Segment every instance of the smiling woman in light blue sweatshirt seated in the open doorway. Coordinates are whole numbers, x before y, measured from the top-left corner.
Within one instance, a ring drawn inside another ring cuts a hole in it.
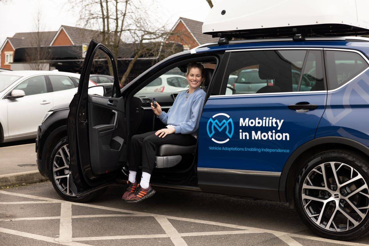
[[[199,63],[191,63],[187,66],[186,79],[189,89],[178,94],[168,113],[162,111],[161,105],[156,101],[154,104],[151,103],[152,111],[166,125],[166,128],[134,135],[131,138],[128,152],[130,174],[122,197],[126,202],[139,202],[154,195],[155,190],[151,188],[149,181],[155,165],[156,149],[159,146],[196,145],[197,129],[206,95],[201,89],[205,81],[204,73],[204,66]],[[141,158],[137,158],[141,155],[142,162]],[[142,166],[142,177],[138,185],[136,174],[139,166]]]

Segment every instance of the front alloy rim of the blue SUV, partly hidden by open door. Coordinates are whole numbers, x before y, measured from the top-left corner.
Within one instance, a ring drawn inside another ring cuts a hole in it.
[[[63,145],[53,159],[53,176],[58,189],[65,195],[75,197],[69,183],[69,145]]]

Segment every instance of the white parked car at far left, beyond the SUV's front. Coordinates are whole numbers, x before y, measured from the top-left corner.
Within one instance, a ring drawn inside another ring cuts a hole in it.
[[[79,74],[58,71],[0,73],[0,143],[36,138],[37,126],[52,107],[70,103]],[[92,81],[89,87],[96,86]]]

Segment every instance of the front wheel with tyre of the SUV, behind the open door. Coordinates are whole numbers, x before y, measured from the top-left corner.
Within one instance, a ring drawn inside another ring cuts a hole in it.
[[[69,148],[68,137],[64,137],[58,141],[51,153],[49,159],[49,177],[56,193],[66,201],[72,202],[88,202],[99,198],[107,190],[107,187],[92,193],[76,197],[69,189]]]

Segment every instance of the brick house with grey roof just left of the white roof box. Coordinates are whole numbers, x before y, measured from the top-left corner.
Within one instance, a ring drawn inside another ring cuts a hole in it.
[[[212,38],[211,35],[202,33],[203,22],[179,17],[172,28],[175,34],[170,35],[166,41],[183,44],[183,49],[188,50],[201,44],[218,42],[219,38]]]

